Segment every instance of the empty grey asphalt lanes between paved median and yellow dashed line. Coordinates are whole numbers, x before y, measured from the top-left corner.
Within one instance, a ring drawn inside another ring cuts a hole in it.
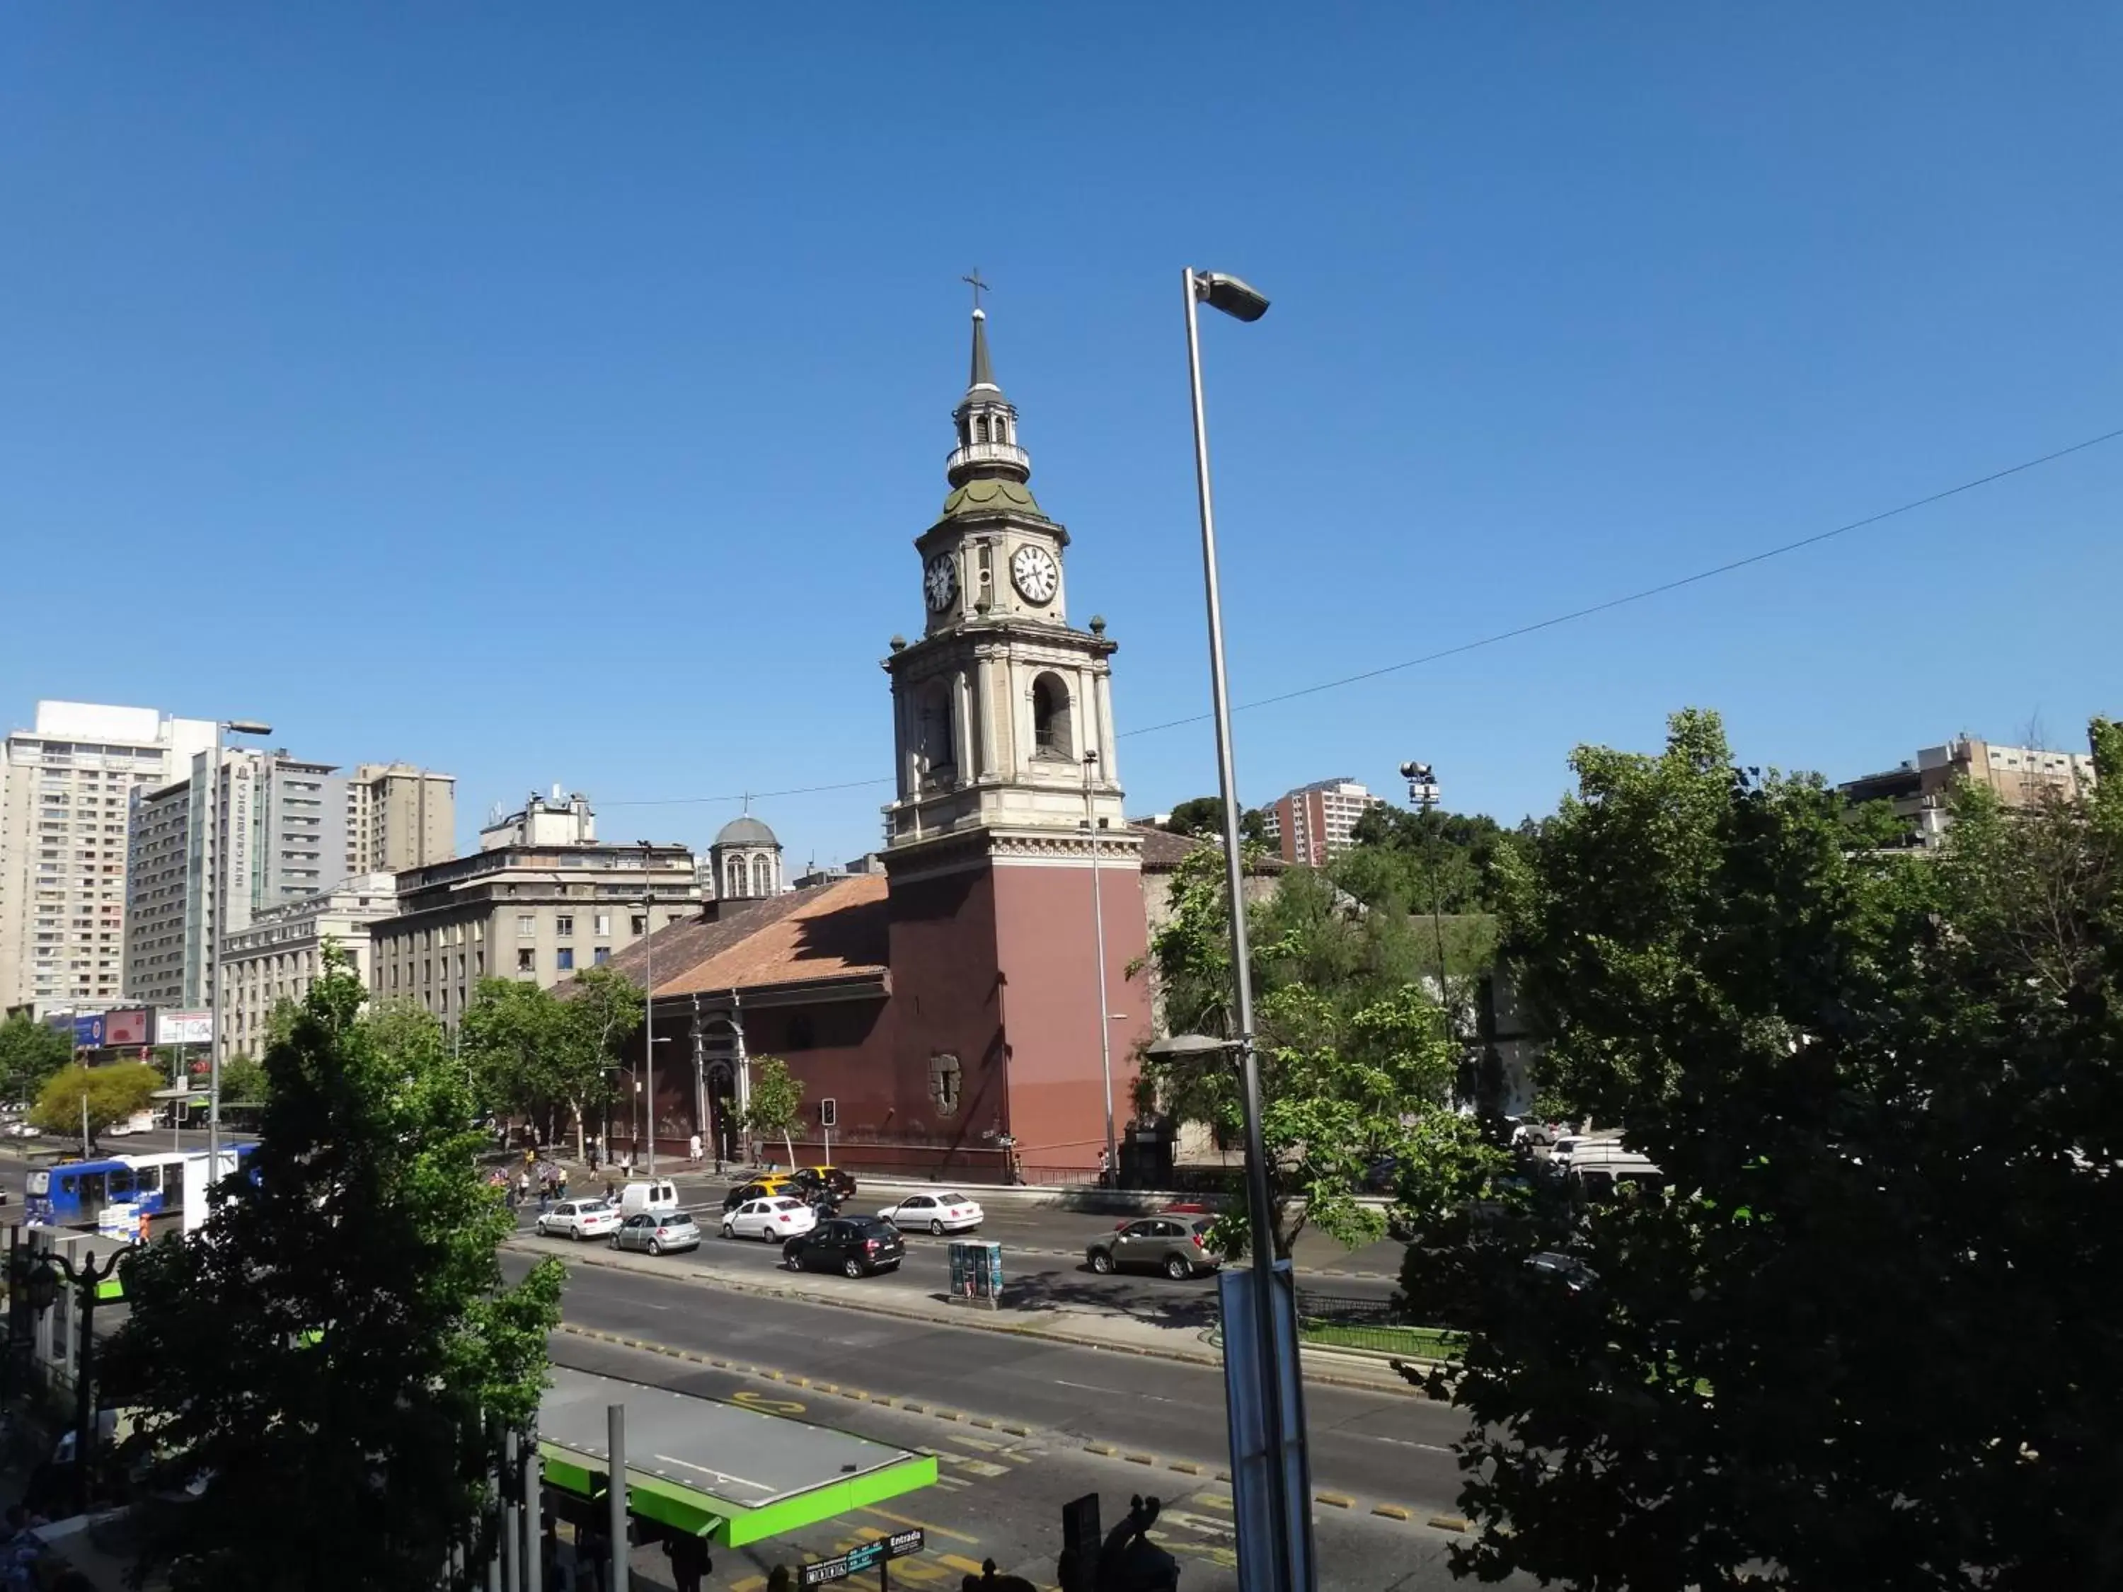
[[[522,1252],[503,1254],[512,1278],[527,1265]],[[607,1267],[573,1269],[563,1310],[577,1327],[1015,1420],[1049,1433],[1051,1441],[1104,1441],[1123,1452],[1193,1460],[1210,1475],[1229,1458],[1223,1375],[1206,1365],[724,1293]],[[1456,1507],[1450,1443],[1467,1422],[1448,1405],[1308,1384],[1306,1416],[1314,1486],[1344,1492],[1365,1509],[1405,1505],[1418,1518]]]

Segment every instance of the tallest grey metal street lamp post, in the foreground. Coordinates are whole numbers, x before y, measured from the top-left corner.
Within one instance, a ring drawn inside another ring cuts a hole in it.
[[[1216,720],[1216,792],[1223,796],[1223,866],[1231,896],[1231,983],[1246,1112],[1246,1227],[1253,1244],[1253,1312],[1261,1363],[1261,1433],[1267,1450],[1263,1471],[1267,1475],[1270,1547],[1274,1552],[1274,1569],[1261,1575],[1259,1569],[1248,1567],[1246,1581],[1263,1592],[1297,1592],[1295,1577],[1308,1573],[1310,1552],[1304,1556],[1306,1567],[1299,1567],[1295,1554],[1299,1543],[1291,1539],[1291,1522],[1293,1509],[1308,1509],[1310,1499],[1287,1496],[1289,1473],[1284,1467],[1284,1448],[1291,1433],[1282,1431],[1280,1339],[1272,1293],[1276,1286],[1276,1233],[1267,1199],[1267,1144],[1261,1136],[1261,1061],[1255,1053],[1253,1034],[1253,968],[1246,947],[1244,866],[1238,851],[1238,775],[1231,762],[1231,696],[1223,669],[1223,596],[1216,584],[1216,512],[1208,484],[1208,418],[1202,408],[1199,321],[1202,304],[1223,310],[1236,321],[1259,321],[1267,314],[1267,297],[1223,272],[1187,267],[1180,274],[1180,282],[1187,301],[1187,376],[1193,397],[1195,492],[1202,503],[1202,590],[1208,605],[1208,681]],[[1225,1335],[1225,1352],[1231,1352],[1229,1335]],[[1291,1346],[1291,1352],[1295,1352],[1295,1346]],[[1255,1552],[1259,1552],[1259,1545],[1255,1545]]]

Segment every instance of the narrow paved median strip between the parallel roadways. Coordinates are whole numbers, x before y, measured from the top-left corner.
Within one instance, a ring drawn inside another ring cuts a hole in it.
[[[648,1254],[626,1254],[620,1250],[554,1250],[524,1235],[505,1242],[529,1254],[558,1254],[567,1265],[601,1267],[609,1271],[641,1271],[664,1282],[690,1282],[701,1288],[724,1288],[728,1293],[752,1293],[769,1299],[796,1299],[813,1305],[839,1305],[873,1316],[894,1316],[928,1327],[964,1327],[983,1333],[1013,1333],[1017,1337],[1038,1337],[1072,1348],[1100,1348],[1115,1354],[1142,1354],[1187,1365],[1223,1365],[1223,1350],[1212,1342],[1214,1327],[1163,1325],[1127,1316],[1117,1310],[1091,1310],[1068,1303],[1017,1305],[1004,1303],[1000,1310],[951,1303],[940,1295],[917,1295],[907,1288],[879,1288],[875,1282],[851,1282],[845,1278],[811,1271],[773,1274],[771,1280],[752,1269],[718,1265],[671,1265]],[[1361,1350],[1331,1350],[1306,1346],[1299,1361],[1308,1382],[1325,1382],[1367,1392],[1397,1392],[1422,1397],[1412,1388],[1391,1361],[1382,1354]],[[1412,1361],[1412,1365],[1427,1365]]]

